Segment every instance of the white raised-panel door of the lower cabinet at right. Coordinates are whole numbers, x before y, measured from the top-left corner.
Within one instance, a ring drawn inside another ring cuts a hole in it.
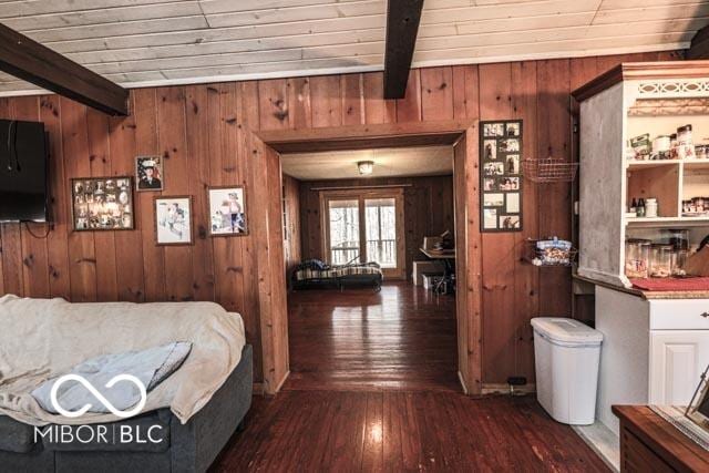
[[[687,405],[709,364],[709,330],[650,331],[650,404]]]

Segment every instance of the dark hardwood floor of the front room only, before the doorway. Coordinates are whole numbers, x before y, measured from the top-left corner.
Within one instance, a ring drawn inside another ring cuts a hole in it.
[[[284,391],[255,398],[214,471],[594,472],[605,464],[534,397]]]

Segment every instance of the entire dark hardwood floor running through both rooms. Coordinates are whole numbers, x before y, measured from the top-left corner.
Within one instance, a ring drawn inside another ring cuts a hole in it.
[[[454,299],[407,284],[289,295],[290,378],[213,471],[608,471],[535,397],[471,398]]]

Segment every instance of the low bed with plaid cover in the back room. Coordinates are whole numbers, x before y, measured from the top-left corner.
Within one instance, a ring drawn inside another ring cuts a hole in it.
[[[379,291],[382,280],[383,274],[377,263],[329,266],[315,259],[301,263],[291,274],[295,290],[371,286]]]

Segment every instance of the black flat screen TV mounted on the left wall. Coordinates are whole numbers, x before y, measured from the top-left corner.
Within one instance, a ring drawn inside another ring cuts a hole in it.
[[[0,222],[47,222],[44,124],[0,120]]]

